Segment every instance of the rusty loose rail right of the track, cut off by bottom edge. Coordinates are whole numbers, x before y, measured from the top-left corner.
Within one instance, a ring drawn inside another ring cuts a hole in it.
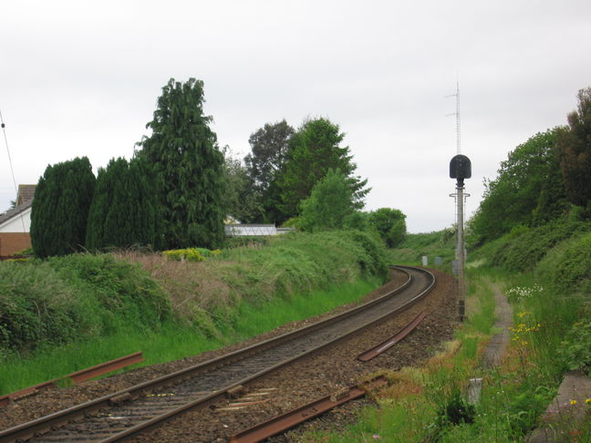
[[[347,403],[350,400],[363,397],[368,390],[377,389],[378,387],[387,384],[388,380],[386,380],[384,376],[378,376],[377,378],[370,380],[368,383],[341,389],[335,394],[320,398],[306,406],[298,407],[281,416],[259,423],[253,428],[238,432],[230,438],[230,443],[256,443],[265,438],[273,437],[285,432],[287,429],[294,428],[310,418],[324,414],[334,407]]]

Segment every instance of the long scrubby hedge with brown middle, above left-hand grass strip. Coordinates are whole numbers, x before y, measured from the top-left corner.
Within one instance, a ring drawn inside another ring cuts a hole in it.
[[[290,233],[265,242],[223,252],[119,252],[136,264],[113,254],[0,263],[0,346],[27,351],[121,331],[158,330],[168,319],[215,336],[232,327],[244,301],[260,305],[387,275],[383,244],[364,232]],[[218,254],[219,260],[204,260]],[[187,263],[176,262],[181,256]],[[190,263],[193,258],[198,263]]]

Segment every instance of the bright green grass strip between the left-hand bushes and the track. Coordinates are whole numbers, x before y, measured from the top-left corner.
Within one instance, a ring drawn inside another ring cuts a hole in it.
[[[289,298],[263,304],[244,303],[233,325],[220,325],[224,335],[219,337],[206,336],[191,325],[169,321],[155,331],[121,329],[116,335],[58,347],[46,346],[27,355],[12,354],[5,357],[0,366],[0,395],[137,351],[142,351],[145,358],[140,366],[198,355],[264,333],[278,325],[357,301],[380,284],[377,278],[358,280],[341,283],[327,291],[292,294]]]

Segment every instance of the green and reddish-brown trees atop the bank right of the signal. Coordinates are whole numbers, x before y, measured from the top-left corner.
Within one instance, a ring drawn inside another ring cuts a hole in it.
[[[495,180],[485,180],[468,223],[475,245],[562,217],[591,219],[591,88],[579,90],[577,101],[568,125],[535,134],[509,153]]]

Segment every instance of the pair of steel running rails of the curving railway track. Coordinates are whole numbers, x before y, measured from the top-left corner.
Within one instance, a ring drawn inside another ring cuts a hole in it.
[[[215,358],[215,359],[210,360],[208,362],[204,362],[200,365],[191,366],[191,367],[182,369],[181,371],[177,371],[173,374],[170,374],[167,376],[161,376],[155,380],[150,380],[148,382],[144,382],[144,383],[137,385],[137,386],[131,386],[130,388],[121,390],[117,393],[114,393],[114,394],[111,394],[108,396],[104,396],[104,397],[100,397],[95,400],[91,400],[91,401],[84,403],[82,405],[78,405],[75,407],[69,407],[66,410],[58,411],[58,412],[56,412],[54,414],[50,414],[46,417],[37,418],[36,420],[33,420],[29,423],[25,423],[25,424],[16,426],[14,428],[6,429],[5,431],[0,432],[0,443],[14,442],[17,439],[31,438],[32,436],[36,435],[37,433],[43,433],[48,428],[55,428],[59,425],[63,425],[64,423],[67,423],[68,421],[72,421],[76,418],[88,415],[92,411],[97,411],[101,408],[109,407],[110,405],[118,405],[119,403],[124,402],[130,398],[139,397],[141,394],[145,394],[147,392],[148,393],[152,392],[153,390],[155,390],[159,387],[162,387],[162,386],[170,386],[171,384],[179,382],[181,379],[191,378],[191,377],[195,376],[196,374],[212,372],[216,368],[219,368],[222,366],[227,366],[232,362],[242,360],[242,359],[246,358],[247,355],[253,355],[253,354],[260,353],[260,352],[264,351],[265,348],[270,348],[270,347],[285,343],[286,341],[295,339],[298,336],[306,335],[310,332],[316,331],[316,329],[320,329],[320,328],[326,327],[328,325],[333,325],[339,321],[342,321],[343,319],[345,319],[347,317],[350,317],[351,315],[357,314],[358,312],[361,312],[364,309],[368,309],[368,307],[379,304],[379,303],[383,302],[384,300],[392,297],[393,295],[399,294],[400,292],[404,291],[404,289],[406,289],[410,285],[412,279],[410,278],[410,273],[405,270],[406,268],[398,267],[397,269],[399,269],[400,271],[407,273],[409,275],[409,279],[407,280],[407,282],[405,284],[403,284],[402,286],[400,286],[399,288],[397,288],[396,290],[390,292],[389,294],[385,294],[381,297],[378,297],[377,299],[375,299],[371,302],[368,302],[367,304],[362,304],[350,311],[347,311],[346,313],[334,315],[332,317],[329,317],[327,320],[324,320],[322,322],[318,322],[317,324],[306,326],[305,328],[293,331],[291,333],[287,333],[285,335],[280,335],[279,337],[276,337],[275,339],[269,339],[269,340],[261,342],[257,345],[248,346],[242,350],[235,351],[235,352],[228,354],[228,355],[223,355],[221,357]],[[433,287],[434,276],[431,273],[429,273],[428,271],[419,270],[417,268],[410,268],[410,269],[414,269],[414,270],[418,270],[422,273],[430,274],[430,284],[427,287],[427,289],[422,291],[419,295],[414,296],[409,302],[407,302],[407,304],[404,304],[403,306],[399,307],[398,309],[396,309],[393,312],[381,315],[378,319],[370,322],[370,324],[376,323],[377,321],[383,319],[384,317],[387,317],[391,314],[395,314],[396,312],[400,312],[401,310],[406,309],[410,304],[416,303],[416,301],[418,301],[421,296],[423,296],[424,294],[427,294],[430,291],[430,289]],[[368,325],[364,325],[358,329],[362,329],[363,327],[367,327]],[[335,341],[337,341],[341,338],[343,338],[343,337],[342,336],[338,337],[336,340],[333,340],[331,343],[334,343]],[[223,397],[225,397],[225,393],[232,390],[233,388],[235,388],[237,386],[245,385],[245,384],[253,381],[255,378],[263,376],[264,374],[267,374],[268,372],[271,372],[271,371],[277,369],[278,367],[285,366],[286,364],[291,363],[292,361],[296,360],[297,358],[301,358],[303,355],[310,354],[311,352],[316,352],[317,349],[319,349],[320,347],[324,347],[325,345],[322,345],[322,346],[319,346],[315,349],[312,349],[302,355],[296,355],[296,357],[287,359],[285,362],[280,363],[280,364],[276,364],[275,366],[268,367],[268,368],[264,369],[264,371],[256,373],[254,376],[248,376],[248,377],[244,378],[243,380],[240,380],[240,382],[238,382],[238,383],[234,383],[230,386],[225,386],[225,387],[215,391],[211,395],[191,401],[191,402],[187,403],[186,405],[183,405],[182,407],[178,407],[176,409],[173,409],[170,412],[162,414],[159,417],[154,417],[150,420],[146,420],[143,423],[140,423],[140,425],[136,425],[131,428],[128,428],[125,431],[120,432],[116,436],[105,438],[101,441],[103,441],[105,443],[110,442],[110,441],[119,441],[123,438],[128,438],[130,436],[137,435],[138,433],[140,433],[141,431],[143,431],[147,428],[157,426],[162,422],[162,420],[166,420],[170,417],[177,416],[186,410],[192,409],[194,407],[204,407],[204,406],[210,405],[213,402],[217,402],[220,399],[222,399]]]

